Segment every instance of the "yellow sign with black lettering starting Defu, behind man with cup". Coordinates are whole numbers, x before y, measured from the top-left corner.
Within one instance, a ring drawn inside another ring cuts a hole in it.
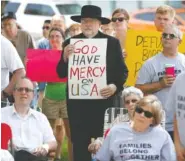
[[[158,31],[128,30],[125,59],[129,76],[125,85],[134,86],[138,71],[150,57],[162,51],[161,33]],[[179,52],[185,54],[185,34],[179,45]]]

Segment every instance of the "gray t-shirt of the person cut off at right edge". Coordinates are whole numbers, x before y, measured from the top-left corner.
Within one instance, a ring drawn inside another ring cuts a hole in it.
[[[174,119],[176,113],[177,127],[181,144],[185,148],[185,72],[180,74],[171,87],[169,97],[166,103],[166,113],[170,114],[170,122]]]

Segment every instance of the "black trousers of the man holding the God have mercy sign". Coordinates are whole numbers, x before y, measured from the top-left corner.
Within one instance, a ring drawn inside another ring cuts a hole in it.
[[[88,145],[91,138],[103,136],[105,110],[113,106],[110,100],[67,100],[73,161],[91,161]]]

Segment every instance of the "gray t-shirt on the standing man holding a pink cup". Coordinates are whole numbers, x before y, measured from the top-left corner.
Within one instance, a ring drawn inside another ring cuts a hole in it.
[[[148,59],[138,73],[136,84],[146,84],[158,82],[165,75],[165,64],[175,65],[175,75],[185,71],[185,56],[181,53],[175,58],[165,57],[162,53]],[[156,93],[153,93],[161,101],[163,107],[165,106],[170,88],[164,88]],[[168,121],[169,116],[166,115]],[[173,131],[173,126],[166,125],[167,131]]]

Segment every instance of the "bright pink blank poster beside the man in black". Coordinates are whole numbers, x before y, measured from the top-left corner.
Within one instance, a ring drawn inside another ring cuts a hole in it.
[[[28,49],[26,75],[36,82],[66,82],[56,72],[62,52],[59,50]]]

